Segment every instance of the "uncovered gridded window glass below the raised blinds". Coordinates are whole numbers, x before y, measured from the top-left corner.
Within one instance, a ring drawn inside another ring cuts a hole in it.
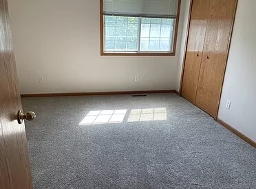
[[[105,51],[171,52],[173,18],[105,16]]]

